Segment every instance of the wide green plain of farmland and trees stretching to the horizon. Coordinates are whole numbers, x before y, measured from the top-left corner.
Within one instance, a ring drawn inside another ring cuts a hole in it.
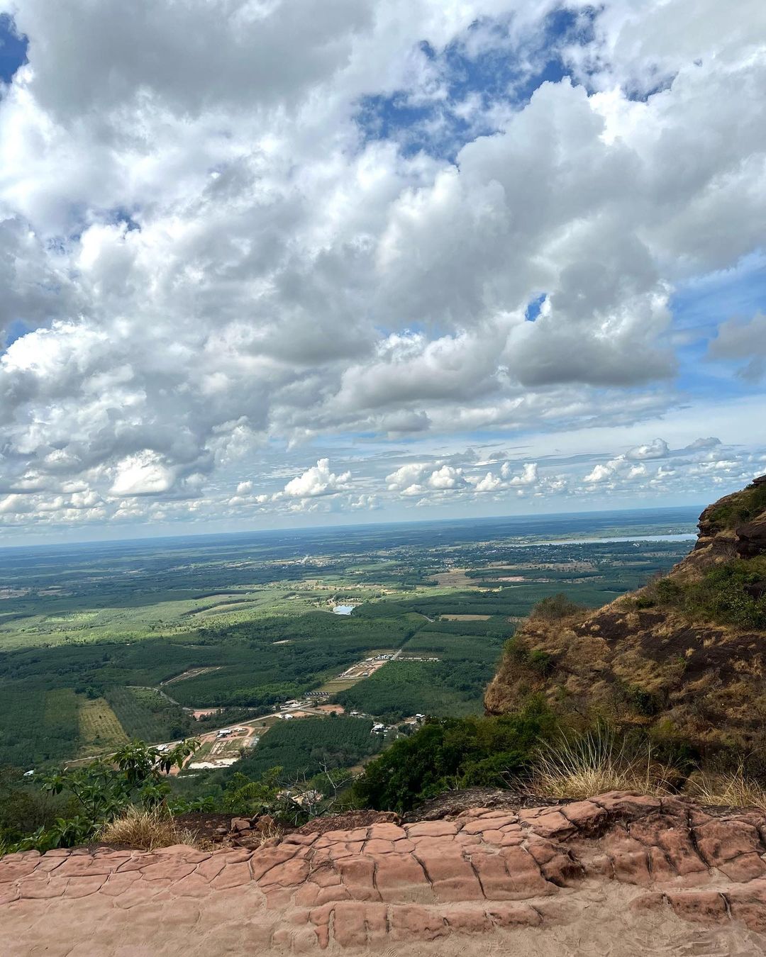
[[[174,740],[320,690],[390,722],[476,713],[536,602],[602,605],[689,545],[642,535],[692,527],[664,510],[5,549],[0,765]],[[575,535],[594,541],[555,542]],[[365,663],[382,652],[396,659]]]

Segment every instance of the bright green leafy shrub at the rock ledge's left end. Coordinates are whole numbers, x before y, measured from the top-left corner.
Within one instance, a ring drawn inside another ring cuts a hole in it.
[[[71,798],[74,812],[41,825],[18,842],[18,850],[47,851],[72,847],[93,838],[98,831],[133,803],[145,810],[161,807],[169,794],[164,780],[170,768],[183,766],[197,746],[185,741],[168,751],[133,741],[109,758],[79,768],[58,770],[42,780],[43,790]]]

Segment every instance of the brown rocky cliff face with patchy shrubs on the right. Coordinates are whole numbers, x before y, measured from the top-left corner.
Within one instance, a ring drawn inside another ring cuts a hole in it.
[[[640,724],[702,750],[766,746],[766,476],[706,508],[699,529],[665,578],[596,612],[533,612],[487,713],[543,694],[575,721]]]

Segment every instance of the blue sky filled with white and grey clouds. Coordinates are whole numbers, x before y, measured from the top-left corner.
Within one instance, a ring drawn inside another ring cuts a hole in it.
[[[0,0],[0,544],[766,472],[766,5]]]

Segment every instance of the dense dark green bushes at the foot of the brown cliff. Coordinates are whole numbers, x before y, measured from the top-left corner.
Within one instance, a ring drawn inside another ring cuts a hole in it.
[[[537,700],[516,715],[430,720],[370,762],[354,783],[354,796],[365,807],[405,812],[443,790],[507,787],[553,726]]]

